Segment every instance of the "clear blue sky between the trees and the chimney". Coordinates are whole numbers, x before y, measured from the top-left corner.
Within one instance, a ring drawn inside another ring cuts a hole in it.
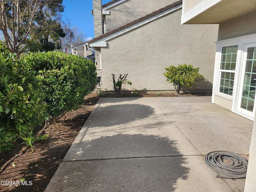
[[[106,4],[110,0],[102,0]],[[94,38],[92,0],[63,0],[65,8],[62,13],[62,20],[70,21],[70,27],[77,27],[86,35],[86,38]]]

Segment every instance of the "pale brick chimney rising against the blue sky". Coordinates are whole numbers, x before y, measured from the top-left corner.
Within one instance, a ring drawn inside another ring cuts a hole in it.
[[[102,0],[92,0],[94,37],[102,35]]]

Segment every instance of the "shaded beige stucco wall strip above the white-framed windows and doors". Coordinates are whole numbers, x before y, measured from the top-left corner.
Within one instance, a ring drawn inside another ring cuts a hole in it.
[[[218,40],[256,33],[256,11],[220,23]]]

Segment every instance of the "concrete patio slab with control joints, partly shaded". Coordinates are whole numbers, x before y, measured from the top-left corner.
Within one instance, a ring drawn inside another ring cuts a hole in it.
[[[248,155],[253,122],[211,97],[100,98],[45,192],[241,192],[204,154]]]

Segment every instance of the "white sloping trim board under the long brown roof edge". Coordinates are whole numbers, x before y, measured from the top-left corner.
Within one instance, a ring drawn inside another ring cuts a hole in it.
[[[156,14],[156,15],[154,15],[154,16],[152,16],[152,17],[146,19],[146,20],[143,20],[143,21],[141,21],[141,22],[138,22],[138,23],[136,23],[136,24],[134,24],[134,25],[132,25],[132,26],[130,26],[130,27],[128,27],[128,28],[125,28],[125,29],[123,29],[123,30],[120,30],[120,31],[114,33],[114,34],[111,34],[111,35],[106,36],[106,37],[104,37],[104,38],[102,38],[102,39],[100,39],[100,40],[97,40],[97,41],[91,43],[90,46],[91,46],[91,47],[101,47],[101,46],[99,46],[99,45],[101,45],[100,42],[106,42],[106,41],[108,41],[108,40],[110,40],[110,39],[112,39],[112,38],[115,38],[115,37],[117,37],[117,36],[120,36],[120,35],[122,35],[122,34],[128,32],[128,31],[130,31],[130,30],[133,30],[133,29],[135,29],[135,28],[138,28],[138,27],[140,27],[140,26],[142,26],[142,25],[144,25],[144,24],[147,24],[147,23],[149,23],[149,22],[151,22],[151,21],[153,21],[153,20],[156,20],[156,19],[158,19],[158,18],[160,18],[160,17],[162,17],[162,16],[165,16],[165,15],[171,13],[171,12],[174,12],[174,11],[180,9],[180,8],[182,8],[182,4],[179,4],[179,5],[177,5],[177,6],[174,6],[173,8],[170,8],[170,9],[168,9],[168,10],[166,10],[166,11],[163,11],[163,12],[161,12],[161,13],[159,13],[159,14]],[[94,45],[94,46],[93,46],[93,45]]]

